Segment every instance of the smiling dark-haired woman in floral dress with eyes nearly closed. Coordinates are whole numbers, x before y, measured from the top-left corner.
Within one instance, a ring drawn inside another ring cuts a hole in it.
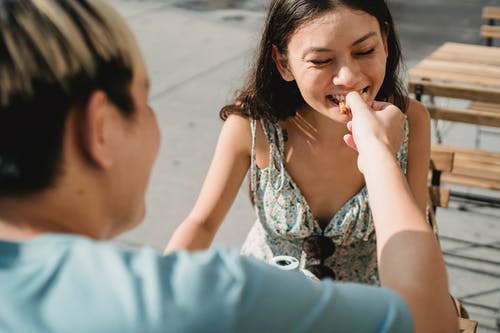
[[[379,283],[376,239],[357,152],[345,145],[350,92],[368,105],[406,113],[398,162],[422,211],[426,205],[429,117],[401,88],[399,42],[383,0],[274,0],[256,62],[225,120],[191,214],[167,249],[208,247],[247,171],[257,221],[242,253],[278,255],[321,267],[343,281]],[[396,130],[396,129],[395,129]],[[304,241],[333,242],[311,256]]]

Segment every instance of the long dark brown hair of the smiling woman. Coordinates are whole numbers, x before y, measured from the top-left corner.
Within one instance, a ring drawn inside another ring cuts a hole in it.
[[[272,47],[276,45],[278,51],[286,56],[290,38],[301,25],[338,6],[360,10],[377,19],[381,32],[387,36],[388,57],[384,81],[376,99],[391,99],[405,111],[407,97],[398,77],[400,43],[384,0],[273,0],[250,75],[237,93],[235,102],[221,109],[221,119],[237,113],[276,122],[295,115],[305,101],[295,81],[282,79],[272,58]]]

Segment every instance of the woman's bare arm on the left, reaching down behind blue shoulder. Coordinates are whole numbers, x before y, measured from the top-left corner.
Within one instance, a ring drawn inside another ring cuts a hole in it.
[[[224,122],[198,200],[175,230],[165,252],[206,249],[233,204],[250,165],[251,131],[247,118],[231,115]]]

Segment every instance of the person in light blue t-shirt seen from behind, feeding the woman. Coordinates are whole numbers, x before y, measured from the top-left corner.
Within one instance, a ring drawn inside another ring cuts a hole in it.
[[[382,287],[219,248],[108,240],[138,224],[160,133],[124,20],[101,0],[0,0],[0,332],[456,332],[438,244],[395,153],[404,115],[347,95]],[[390,130],[389,130],[390,129]]]

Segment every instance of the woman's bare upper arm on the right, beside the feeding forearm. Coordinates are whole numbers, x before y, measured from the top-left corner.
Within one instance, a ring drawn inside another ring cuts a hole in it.
[[[430,116],[427,108],[414,99],[410,99],[406,115],[410,130],[406,179],[418,207],[425,212],[430,159]]]

